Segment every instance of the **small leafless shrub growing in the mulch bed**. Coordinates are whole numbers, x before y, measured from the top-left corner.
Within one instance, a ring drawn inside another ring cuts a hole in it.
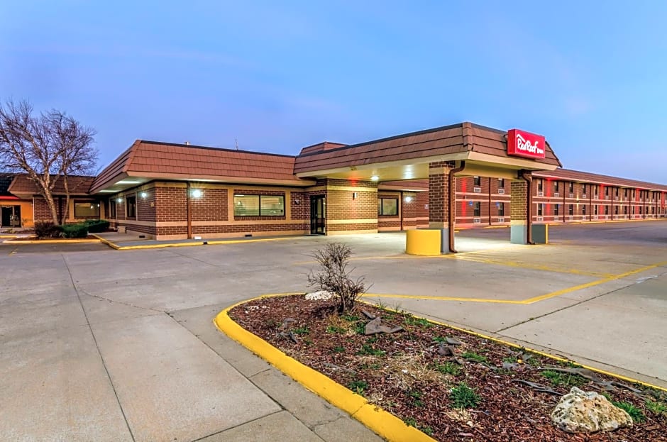
[[[354,309],[355,301],[366,291],[364,278],[353,280],[352,270],[348,270],[351,248],[342,243],[329,243],[315,250],[312,257],[319,263],[317,272],[311,270],[308,283],[311,287],[335,294],[338,301],[338,313],[343,314]]]

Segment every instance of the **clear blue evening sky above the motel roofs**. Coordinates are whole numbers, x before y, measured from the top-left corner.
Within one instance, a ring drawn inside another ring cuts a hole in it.
[[[667,183],[667,2],[459,3],[7,0],[0,99],[96,128],[100,166],[137,138],[295,155],[473,121]]]

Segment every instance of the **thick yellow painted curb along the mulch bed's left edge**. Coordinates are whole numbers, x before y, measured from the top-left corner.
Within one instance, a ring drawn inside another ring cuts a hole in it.
[[[246,331],[246,329],[236,324],[228,315],[228,312],[234,307],[254,299],[297,294],[302,295],[302,293],[270,294],[239,302],[221,311],[215,317],[214,323],[220,331],[234,341],[241,343],[242,346],[248,348],[255,355],[266,360],[275,368],[299,382],[299,384],[326,399],[329,403],[346,411],[354,419],[368,426],[368,428],[375,431],[382,438],[387,439],[387,441],[434,442],[434,438],[426,436],[425,433],[414,428],[414,426],[407,426],[393,414],[380,409],[380,407],[374,404],[370,404],[364,397],[355,394],[350,389],[343,387],[338,382],[334,382],[320,372],[290,358],[290,356],[282,353],[282,351],[259,336]]]

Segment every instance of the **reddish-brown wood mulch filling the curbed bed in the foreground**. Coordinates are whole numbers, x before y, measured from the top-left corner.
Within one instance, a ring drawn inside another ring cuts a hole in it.
[[[365,336],[364,327],[370,319],[362,311],[404,331]],[[338,316],[334,312],[333,301],[288,296],[255,299],[236,306],[229,316],[292,358],[363,394],[438,441],[667,441],[667,412],[656,413],[646,407],[647,400],[667,407],[664,392],[588,370],[577,371],[582,369],[573,363],[561,363],[404,312],[367,304],[360,304],[355,314]],[[461,341],[461,345],[448,345],[446,338]],[[448,350],[453,350],[453,355],[441,355]],[[544,370],[548,367],[554,370]],[[530,383],[551,392],[538,391],[539,387]],[[475,407],[454,407],[453,389],[461,391],[462,384],[478,394]],[[573,386],[633,404],[644,421],[607,433],[565,433],[549,416],[561,395]]]

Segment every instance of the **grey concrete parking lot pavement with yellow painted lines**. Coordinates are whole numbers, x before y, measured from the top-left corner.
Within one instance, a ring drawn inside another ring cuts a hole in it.
[[[549,238],[460,231],[461,253],[435,258],[405,255],[403,233],[2,244],[0,439],[241,441],[278,419],[304,440],[370,440],[211,322],[243,299],[307,290],[309,254],[330,241],[353,248],[369,301],[667,387],[667,222],[552,226]]]

